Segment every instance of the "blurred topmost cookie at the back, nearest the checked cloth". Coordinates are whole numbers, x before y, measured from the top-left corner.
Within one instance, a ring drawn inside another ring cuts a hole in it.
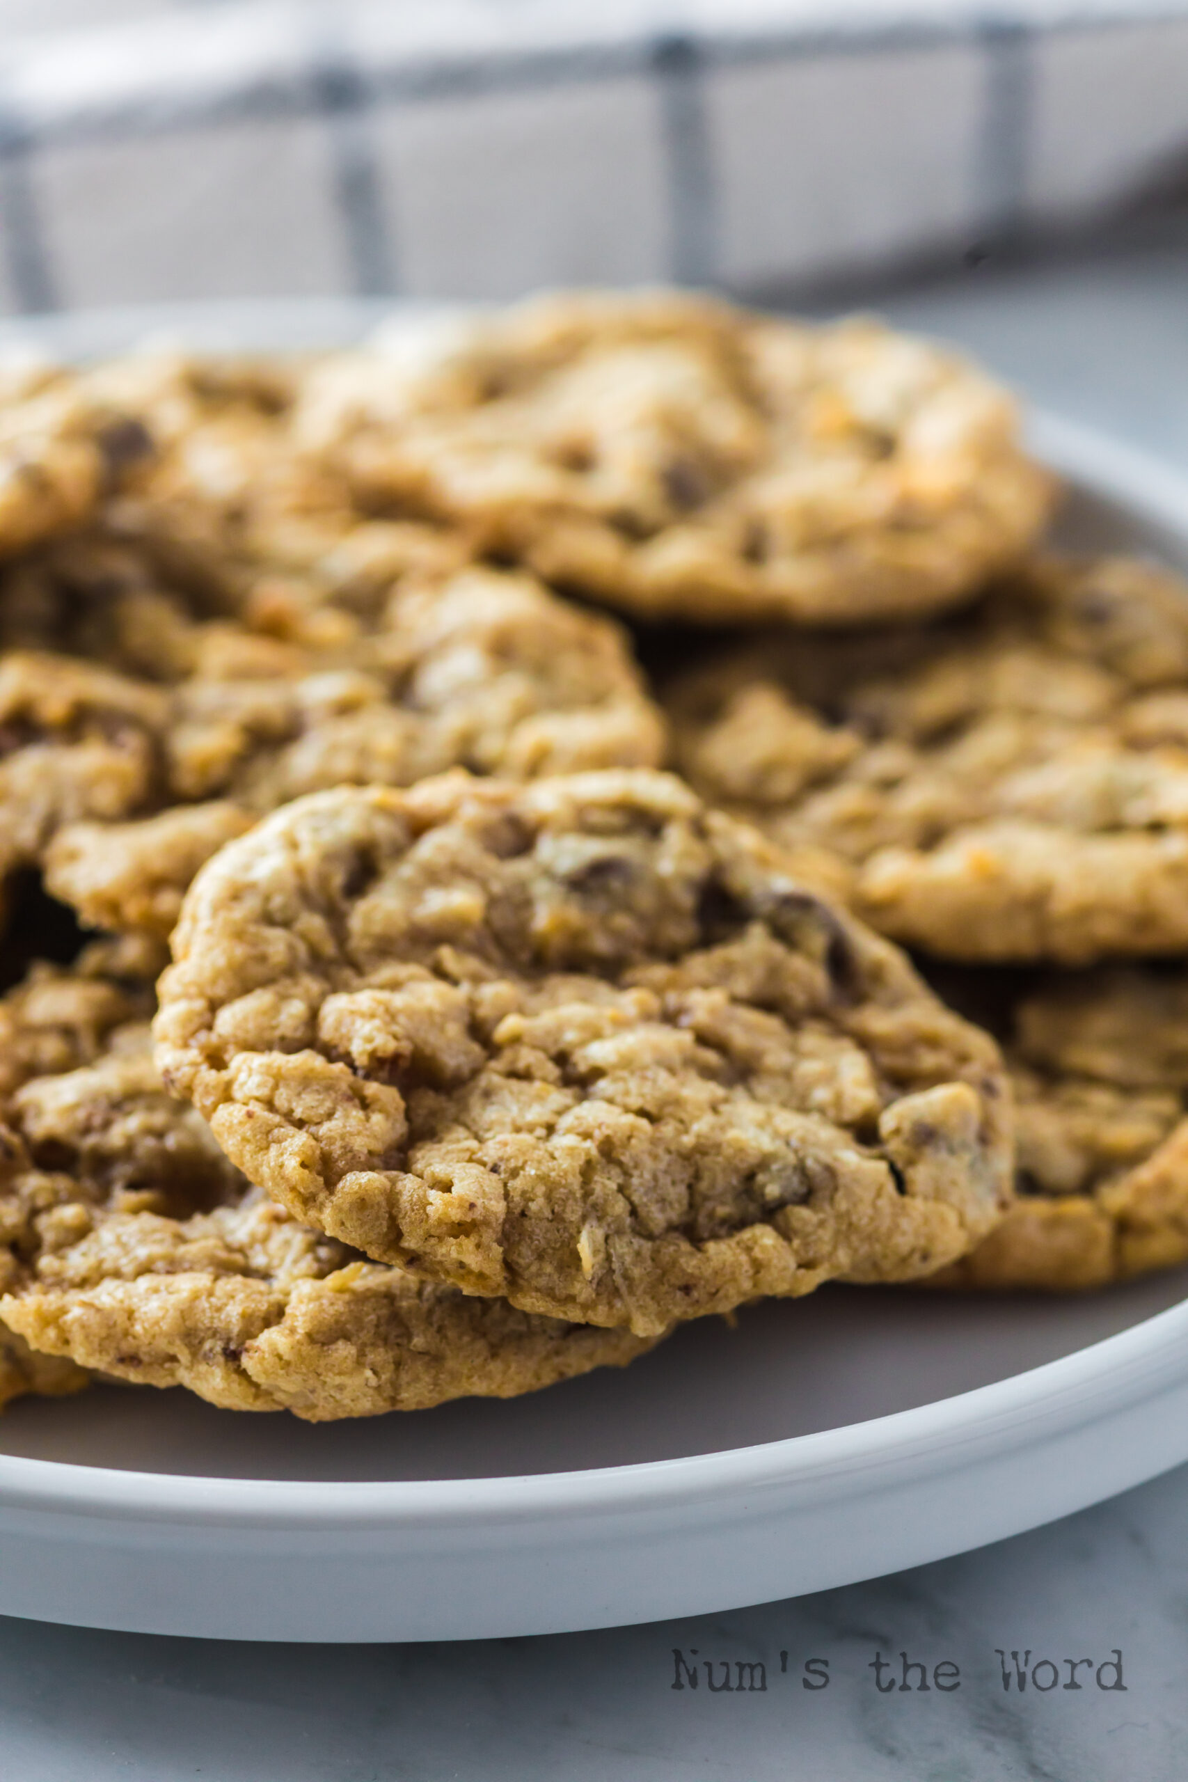
[[[958,602],[1049,504],[1008,396],[867,319],[538,298],[315,365],[294,435],[363,506],[639,618],[805,625]]]

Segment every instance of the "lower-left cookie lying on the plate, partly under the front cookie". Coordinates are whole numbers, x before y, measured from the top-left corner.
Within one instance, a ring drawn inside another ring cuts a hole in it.
[[[148,1030],[11,1094],[0,1402],[87,1370],[308,1420],[511,1397],[652,1344],[468,1299],[299,1226],[162,1091]]]

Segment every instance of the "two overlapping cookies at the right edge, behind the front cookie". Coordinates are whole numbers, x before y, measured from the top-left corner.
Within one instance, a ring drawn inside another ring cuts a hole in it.
[[[1005,1044],[1019,1201],[942,1279],[1188,1260],[1188,588],[1042,558],[930,625],[748,640],[670,706],[693,784]]]

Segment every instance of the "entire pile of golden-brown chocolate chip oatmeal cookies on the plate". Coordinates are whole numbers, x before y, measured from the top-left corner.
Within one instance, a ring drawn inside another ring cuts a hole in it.
[[[0,381],[2,1397],[1188,1255],[1188,599],[1031,556],[980,372],[643,294]]]

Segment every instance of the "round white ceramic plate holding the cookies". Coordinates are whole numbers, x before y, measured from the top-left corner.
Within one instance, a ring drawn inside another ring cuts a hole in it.
[[[182,323],[253,346],[351,337],[372,315]],[[160,321],[71,319],[50,340],[109,349]],[[1067,542],[1188,567],[1184,481],[1056,421],[1035,446],[1074,485]],[[1183,1274],[1070,1301],[826,1288],[736,1329],[689,1326],[627,1372],[362,1424],[116,1386],[25,1401],[0,1422],[0,1613],[472,1639],[899,1570],[1188,1459],[1186,1292]]]

